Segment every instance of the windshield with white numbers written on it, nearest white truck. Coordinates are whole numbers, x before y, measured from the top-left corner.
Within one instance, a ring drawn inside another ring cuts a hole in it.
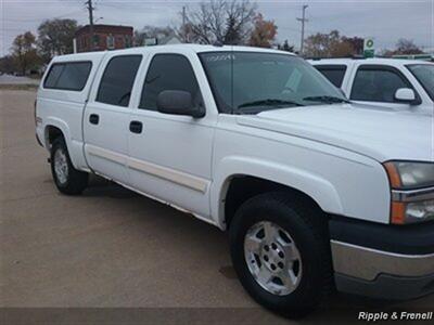
[[[304,60],[289,54],[207,52],[200,54],[220,113],[348,102]]]

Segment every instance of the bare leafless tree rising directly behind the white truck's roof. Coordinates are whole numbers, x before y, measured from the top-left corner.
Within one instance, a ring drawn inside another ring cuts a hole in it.
[[[210,0],[186,11],[180,34],[189,42],[245,43],[255,16],[256,5],[248,0]]]

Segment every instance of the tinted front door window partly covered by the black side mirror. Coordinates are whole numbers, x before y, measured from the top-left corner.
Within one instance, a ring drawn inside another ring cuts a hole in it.
[[[197,80],[187,57],[179,54],[157,54],[152,58],[139,107],[156,110],[157,96],[164,90],[188,91],[194,103],[201,101]]]

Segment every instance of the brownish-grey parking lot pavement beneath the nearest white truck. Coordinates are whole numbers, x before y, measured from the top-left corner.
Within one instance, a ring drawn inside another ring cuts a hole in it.
[[[221,309],[221,322],[286,322],[244,292],[218,229],[99,179],[81,196],[61,195],[35,140],[35,96],[0,91],[0,307],[146,308],[171,320]],[[380,307],[343,296],[331,304],[314,318]],[[433,310],[434,296],[381,304],[414,308]]]

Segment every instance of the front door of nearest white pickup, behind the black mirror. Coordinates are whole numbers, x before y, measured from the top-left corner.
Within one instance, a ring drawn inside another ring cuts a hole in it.
[[[143,72],[130,118],[128,166],[133,187],[207,219],[217,114],[207,109],[205,117],[193,118],[159,113],[156,105],[162,91],[182,90],[191,93],[195,105],[206,106],[200,87],[206,77],[191,64],[195,60],[200,65],[199,57],[191,56],[157,53]],[[140,132],[137,125],[142,126]]]

